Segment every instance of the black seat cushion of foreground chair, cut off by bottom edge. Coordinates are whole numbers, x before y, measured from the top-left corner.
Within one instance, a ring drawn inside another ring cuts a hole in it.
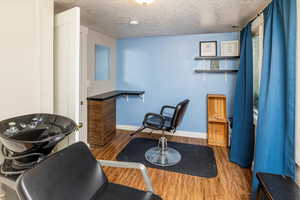
[[[162,200],[159,196],[124,185],[106,184],[91,200]]]

